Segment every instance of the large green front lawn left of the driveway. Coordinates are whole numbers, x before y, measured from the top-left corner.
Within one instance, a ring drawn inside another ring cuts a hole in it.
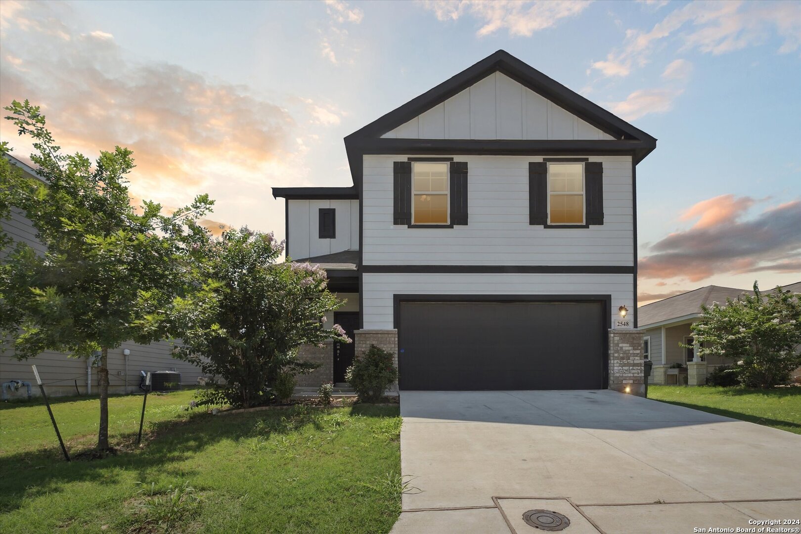
[[[43,404],[0,406],[0,532],[388,532],[400,512],[397,406],[212,416],[192,391],[110,400],[106,460],[67,464]],[[72,455],[97,399],[54,399]]]

